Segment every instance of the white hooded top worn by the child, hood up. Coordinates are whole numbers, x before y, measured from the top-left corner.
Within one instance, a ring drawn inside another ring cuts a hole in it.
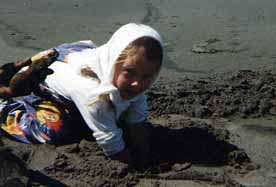
[[[68,63],[56,61],[50,66],[54,74],[47,77],[46,83],[75,103],[106,155],[116,154],[125,147],[122,130],[116,125],[122,113],[126,113],[125,120],[131,124],[142,122],[148,117],[144,94],[123,100],[118,89],[112,84],[114,65],[121,52],[131,42],[144,36],[156,39],[163,47],[160,35],[153,28],[130,23],[119,28],[106,44],[72,53],[68,56]],[[100,83],[81,76],[80,70],[83,67],[91,68]],[[102,94],[109,94],[115,111],[110,110],[105,101],[91,105],[91,102]]]

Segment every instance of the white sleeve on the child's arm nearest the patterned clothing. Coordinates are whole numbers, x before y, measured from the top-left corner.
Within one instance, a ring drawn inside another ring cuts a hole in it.
[[[77,105],[86,124],[93,131],[98,145],[107,156],[114,155],[125,148],[122,129],[117,127],[115,112],[104,100],[91,104],[83,92],[71,93],[71,98]]]

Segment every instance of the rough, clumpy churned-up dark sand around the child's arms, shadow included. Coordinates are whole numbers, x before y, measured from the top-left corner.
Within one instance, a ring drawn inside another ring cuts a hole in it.
[[[271,72],[240,71],[156,85],[148,92],[151,163],[144,171],[107,159],[92,138],[54,146],[2,136],[0,186],[242,186],[236,176],[259,166],[218,119],[274,116],[275,80]]]

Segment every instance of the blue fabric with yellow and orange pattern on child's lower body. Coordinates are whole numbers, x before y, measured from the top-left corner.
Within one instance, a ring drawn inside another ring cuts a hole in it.
[[[53,143],[62,134],[63,115],[55,103],[26,96],[2,110],[1,128],[20,142]]]

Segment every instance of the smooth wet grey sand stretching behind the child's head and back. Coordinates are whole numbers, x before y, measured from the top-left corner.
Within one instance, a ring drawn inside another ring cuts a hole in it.
[[[162,33],[169,72],[204,76],[238,69],[273,68],[275,6],[270,0],[242,3],[11,0],[1,2],[0,34],[8,46],[27,49],[31,55],[40,49],[81,39],[92,39],[100,45],[120,25],[142,22]],[[210,39],[219,40],[211,47],[220,52],[201,55],[191,52],[194,45]],[[1,62],[3,56],[4,60],[21,57],[0,54]]]

